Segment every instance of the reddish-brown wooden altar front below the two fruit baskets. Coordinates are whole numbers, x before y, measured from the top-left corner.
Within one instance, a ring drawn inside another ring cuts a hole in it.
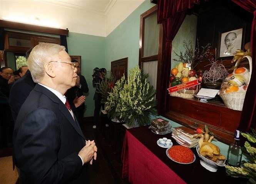
[[[169,98],[166,117],[184,126],[196,129],[207,124],[216,138],[224,143],[233,141],[234,131],[239,125],[241,111],[228,109],[221,102],[202,103],[198,99]]]

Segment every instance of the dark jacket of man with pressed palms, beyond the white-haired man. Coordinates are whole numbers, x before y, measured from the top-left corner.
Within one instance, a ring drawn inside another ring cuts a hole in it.
[[[73,100],[75,99],[76,96],[80,97],[80,96],[84,95],[83,93],[88,93],[88,91],[89,91],[89,88],[88,88],[88,85],[87,85],[87,82],[86,82],[84,76],[82,76],[82,75],[79,75],[79,76],[80,76],[81,89],[77,86],[74,86],[74,87],[70,88],[69,90],[67,90],[67,94],[65,96],[67,97],[69,102],[73,102]],[[84,109],[85,109],[85,105],[83,103],[79,107],[77,107],[77,112],[84,114]]]

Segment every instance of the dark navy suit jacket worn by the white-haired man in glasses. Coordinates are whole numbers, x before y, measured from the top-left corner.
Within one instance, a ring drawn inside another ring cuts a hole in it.
[[[85,183],[78,156],[85,138],[77,119],[47,88],[36,85],[22,105],[13,133],[15,165],[25,184]]]

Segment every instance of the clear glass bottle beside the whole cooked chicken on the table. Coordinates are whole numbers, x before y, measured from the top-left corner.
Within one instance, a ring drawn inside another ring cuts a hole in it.
[[[242,159],[242,149],[240,146],[240,131],[236,130],[234,142],[228,148],[227,162],[229,166],[239,167]]]

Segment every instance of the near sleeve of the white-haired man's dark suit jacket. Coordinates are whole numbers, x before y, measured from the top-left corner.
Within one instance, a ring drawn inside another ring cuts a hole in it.
[[[60,140],[60,127],[53,111],[36,109],[20,123],[14,145],[15,163],[20,172],[26,171],[29,183],[67,183],[79,174],[82,161],[77,153],[57,159],[59,148],[65,143]]]

